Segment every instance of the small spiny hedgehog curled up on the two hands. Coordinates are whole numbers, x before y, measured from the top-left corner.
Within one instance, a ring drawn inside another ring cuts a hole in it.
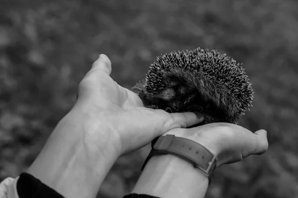
[[[157,56],[146,78],[137,83],[144,106],[195,112],[202,124],[238,124],[252,106],[253,88],[242,64],[216,49],[176,50]]]

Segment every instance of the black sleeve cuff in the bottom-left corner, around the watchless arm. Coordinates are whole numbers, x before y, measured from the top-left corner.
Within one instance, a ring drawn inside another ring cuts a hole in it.
[[[16,190],[19,198],[64,198],[54,189],[28,173],[20,174],[16,183]]]

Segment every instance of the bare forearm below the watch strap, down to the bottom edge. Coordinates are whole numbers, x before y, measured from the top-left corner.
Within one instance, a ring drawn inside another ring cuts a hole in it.
[[[208,177],[174,155],[150,158],[132,193],[159,198],[204,198]]]

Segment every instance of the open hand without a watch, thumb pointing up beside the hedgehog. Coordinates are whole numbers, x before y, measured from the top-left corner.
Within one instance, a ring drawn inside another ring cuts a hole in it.
[[[83,137],[88,141],[89,151],[97,153],[102,149],[100,143],[105,141],[117,155],[126,154],[170,129],[203,121],[204,118],[190,112],[170,114],[144,107],[137,94],[119,86],[110,77],[111,71],[111,61],[101,54],[79,84],[72,111],[84,114]]]

